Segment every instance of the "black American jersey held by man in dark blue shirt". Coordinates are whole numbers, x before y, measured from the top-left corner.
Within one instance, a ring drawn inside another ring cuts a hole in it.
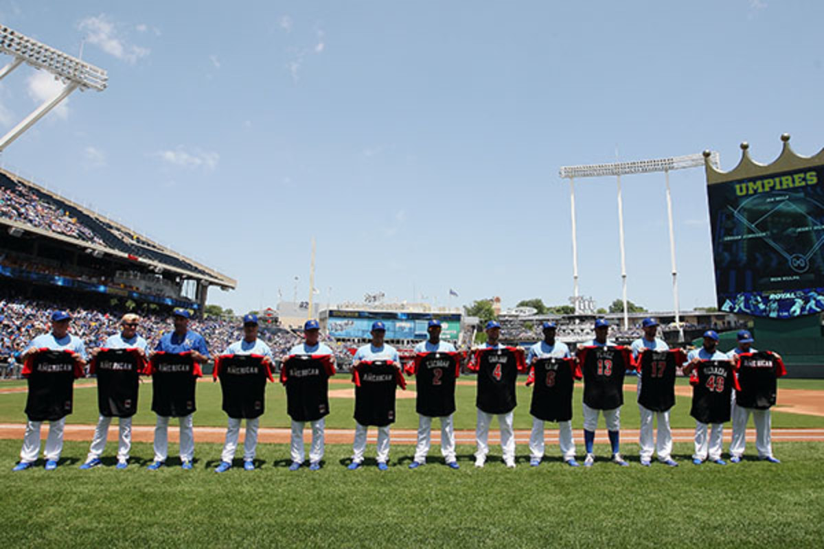
[[[194,391],[203,375],[191,351],[157,351],[149,361],[152,375],[152,412],[158,416],[183,417],[197,410]]]

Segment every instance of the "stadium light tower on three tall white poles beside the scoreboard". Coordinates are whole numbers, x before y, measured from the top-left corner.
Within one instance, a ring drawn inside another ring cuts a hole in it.
[[[670,194],[669,173],[671,170],[684,170],[704,165],[704,155],[671,156],[648,161],[614,162],[612,164],[589,164],[563,166],[559,170],[562,179],[569,179],[570,204],[572,208],[572,257],[573,257],[573,284],[575,296],[575,312],[578,313],[578,242],[575,233],[575,178],[604,177],[615,175],[618,181],[618,234],[620,238],[620,276],[622,299],[624,301],[624,329],[629,328],[630,319],[626,306],[626,255],[624,248],[624,202],[620,192],[620,176],[628,174],[651,174],[664,172],[667,181],[667,216],[669,219],[670,234],[670,261],[672,263],[672,300],[675,306],[675,321],[678,326],[678,340],[684,341],[684,329],[681,328],[681,318],[678,305],[678,270],[675,262],[675,234],[672,230],[672,196]],[[709,162],[719,165],[719,153],[712,152]]]

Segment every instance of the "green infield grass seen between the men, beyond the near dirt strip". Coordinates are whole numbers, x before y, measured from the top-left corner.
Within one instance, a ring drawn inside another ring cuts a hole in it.
[[[340,375],[339,377],[344,377]],[[471,379],[471,378],[464,378]],[[630,383],[628,378],[628,383]],[[531,388],[524,387],[519,380],[517,389],[518,407],[515,409],[515,428],[531,428],[529,403]],[[18,382],[11,382],[18,383]],[[88,383],[80,380],[81,384]],[[686,385],[686,379],[680,379],[679,384]],[[20,385],[18,385],[20,386]],[[25,386],[25,383],[22,385]],[[11,385],[0,384],[0,388]],[[351,388],[351,384],[331,384],[331,389]],[[410,384],[414,390],[414,384]],[[788,379],[780,381],[780,388],[808,388],[824,389],[824,380]],[[779,389],[780,391],[780,389]],[[261,418],[260,425],[266,427],[288,427],[289,418],[286,415],[286,393],[280,384],[269,384],[267,388],[266,413]],[[573,425],[582,426],[581,398],[583,389],[577,387],[574,395]],[[68,416],[69,423],[90,424],[97,421],[97,400],[95,388],[77,388],[74,392],[74,413]],[[637,428],[639,426],[639,412],[636,404],[635,391],[627,391],[624,398],[625,405],[621,408],[621,426]],[[154,425],[155,416],[150,410],[152,403],[152,385],[143,384],[140,391],[139,412],[134,416],[135,425]],[[220,385],[208,383],[198,384],[197,389],[198,411],[194,414],[195,426],[225,426],[226,414],[221,409]],[[694,427],[695,420],[691,418],[690,397],[678,397],[676,407],[672,410],[672,427]],[[0,422],[22,423],[26,421],[23,409],[26,407],[25,393],[0,394]],[[475,429],[475,386],[459,385],[456,389],[455,428]],[[330,416],[326,419],[326,426],[338,429],[353,429],[352,418],[354,401],[351,398],[330,399]],[[418,416],[414,411],[414,398],[397,400],[397,422],[395,426],[403,429],[416,429]],[[772,425],[778,427],[824,427],[822,416],[801,416],[781,412],[780,407],[774,408]]]

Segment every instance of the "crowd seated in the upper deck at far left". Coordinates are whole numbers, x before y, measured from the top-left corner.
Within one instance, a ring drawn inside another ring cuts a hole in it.
[[[0,217],[104,245],[103,240],[87,226],[21,184],[13,189],[0,186]]]

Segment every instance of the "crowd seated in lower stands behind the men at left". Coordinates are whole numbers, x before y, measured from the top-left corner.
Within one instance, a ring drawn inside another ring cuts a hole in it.
[[[87,349],[101,347],[106,337],[118,333],[120,319],[126,312],[120,309],[89,309],[76,303],[0,296],[0,365],[14,363],[12,369],[4,368],[4,377],[19,376],[21,352],[35,336],[49,332],[49,317],[54,310],[66,310],[72,315],[69,333],[80,337]],[[212,356],[219,355],[232,342],[243,337],[240,319],[191,319],[189,328],[206,338]],[[138,334],[146,338],[150,348],[154,348],[162,334],[172,329],[174,327],[170,314],[147,314],[143,316]],[[265,326],[261,327],[259,337],[272,348],[276,366],[293,346],[302,341],[302,334],[283,329],[273,330]],[[339,345],[331,337],[322,337],[322,340],[335,351],[339,368],[348,370],[352,359],[349,347]]]

